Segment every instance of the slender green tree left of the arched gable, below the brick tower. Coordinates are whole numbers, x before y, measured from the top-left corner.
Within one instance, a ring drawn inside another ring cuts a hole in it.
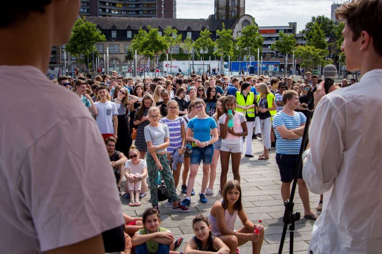
[[[216,39],[216,51],[214,54],[221,57],[220,69],[223,70],[223,61],[225,56],[233,56],[233,37],[232,29],[226,30],[224,23],[222,23],[222,30],[219,29],[216,31],[216,34],[219,36]]]

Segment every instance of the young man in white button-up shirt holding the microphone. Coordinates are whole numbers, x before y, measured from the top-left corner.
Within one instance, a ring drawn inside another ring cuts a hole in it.
[[[312,192],[324,193],[324,204],[309,250],[380,253],[382,119],[375,116],[382,115],[382,1],[352,1],[336,16],[345,21],[346,68],[361,70],[362,79],[326,96],[322,82],[315,93],[303,177]]]

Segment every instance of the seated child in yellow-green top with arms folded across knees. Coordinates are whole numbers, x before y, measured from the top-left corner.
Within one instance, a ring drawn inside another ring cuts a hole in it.
[[[136,254],[179,253],[170,251],[170,249],[176,250],[180,246],[183,237],[179,237],[174,241],[171,231],[160,227],[160,217],[157,209],[146,209],[142,216],[142,222],[144,228],[138,230],[131,239]]]

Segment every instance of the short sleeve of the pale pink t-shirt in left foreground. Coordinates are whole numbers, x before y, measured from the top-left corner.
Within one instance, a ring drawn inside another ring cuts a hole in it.
[[[29,149],[20,177],[42,252],[124,223],[105,143],[90,117],[55,124]]]

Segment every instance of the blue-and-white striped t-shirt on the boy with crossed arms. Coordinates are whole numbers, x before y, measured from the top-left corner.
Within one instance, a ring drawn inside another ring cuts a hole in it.
[[[296,129],[305,123],[306,119],[307,117],[302,112],[295,112],[294,116],[290,116],[280,111],[273,116],[272,125],[276,135],[277,154],[299,154],[303,138],[297,140],[283,139],[276,127],[284,125],[288,130]]]

